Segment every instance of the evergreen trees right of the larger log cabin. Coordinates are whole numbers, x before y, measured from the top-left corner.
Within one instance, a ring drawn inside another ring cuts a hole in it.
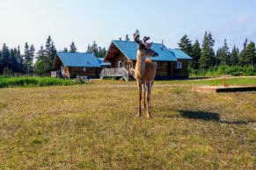
[[[190,55],[193,60],[190,63],[190,69],[199,72],[212,70],[213,67],[256,67],[256,49],[254,42],[248,42],[245,39],[243,49],[240,51],[236,45],[228,46],[227,40],[224,39],[223,46],[214,50],[215,39],[211,32],[205,32],[202,44],[198,39],[194,44],[185,34],[178,43],[179,48]]]

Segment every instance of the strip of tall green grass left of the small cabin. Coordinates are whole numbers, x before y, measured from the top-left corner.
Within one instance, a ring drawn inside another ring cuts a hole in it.
[[[52,77],[8,77],[0,78],[0,88],[42,87],[54,85],[82,84],[83,81],[65,80]]]

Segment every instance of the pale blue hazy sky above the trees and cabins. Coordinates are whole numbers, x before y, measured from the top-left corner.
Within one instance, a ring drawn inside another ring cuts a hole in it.
[[[75,41],[84,52],[93,40],[107,48],[138,28],[171,48],[185,33],[201,43],[205,31],[215,48],[223,39],[241,47],[245,38],[256,41],[255,7],[252,0],[0,0],[0,46],[28,42],[38,50],[51,35],[58,50]]]

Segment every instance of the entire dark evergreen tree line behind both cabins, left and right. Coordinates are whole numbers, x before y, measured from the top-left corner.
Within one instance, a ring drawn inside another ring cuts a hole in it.
[[[129,40],[128,35],[126,35],[125,40]],[[185,34],[178,45],[181,50],[193,58],[189,67],[190,70],[196,72],[207,72],[219,66],[256,67],[255,43],[248,42],[247,39],[245,39],[242,50],[239,50],[235,45],[230,50],[227,40],[224,39],[223,46],[215,52],[215,39],[213,39],[211,32],[205,32],[201,44],[198,39],[193,44]],[[71,42],[69,49],[65,47],[62,52],[77,53],[75,42]],[[98,46],[96,41],[93,41],[91,45],[88,45],[86,52],[101,58],[106,55],[106,48]],[[0,74],[35,73],[48,75],[54,69],[55,53],[55,43],[50,36],[48,36],[45,46],[40,46],[37,53],[35,53],[33,44],[26,43],[23,54],[20,52],[19,46],[9,49],[4,44],[0,49]],[[33,63],[33,61],[35,62]]]

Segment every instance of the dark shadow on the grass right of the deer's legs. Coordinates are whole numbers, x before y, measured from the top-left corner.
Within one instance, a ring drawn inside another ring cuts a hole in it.
[[[204,121],[215,121],[221,124],[249,124],[255,123],[256,121],[245,121],[245,120],[221,120],[219,113],[215,112],[203,112],[203,111],[188,111],[179,110],[181,117],[186,117],[190,119],[200,119]]]

